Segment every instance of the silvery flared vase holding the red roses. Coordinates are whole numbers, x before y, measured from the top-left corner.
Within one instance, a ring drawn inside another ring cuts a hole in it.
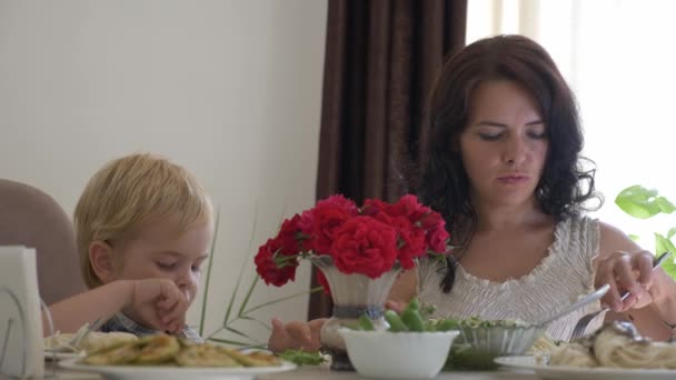
[[[340,272],[329,256],[318,256],[310,260],[326,277],[334,301],[332,316],[320,331],[322,349],[331,354],[331,370],[354,371],[338,329],[358,323],[361,314],[367,314],[374,321],[376,330],[387,329],[388,324],[382,317],[385,302],[401,268],[396,263],[388,272],[371,279],[364,274]]]

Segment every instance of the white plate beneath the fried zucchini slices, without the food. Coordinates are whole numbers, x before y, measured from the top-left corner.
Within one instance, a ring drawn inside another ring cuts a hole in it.
[[[270,372],[284,372],[296,369],[296,364],[284,361],[281,366],[275,367],[176,367],[176,366],[89,366],[79,362],[80,359],[68,359],[59,362],[59,367],[101,373],[107,379],[255,379],[257,374]]]

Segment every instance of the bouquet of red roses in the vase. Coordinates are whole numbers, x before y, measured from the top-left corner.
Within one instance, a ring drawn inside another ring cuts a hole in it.
[[[397,262],[410,269],[416,258],[446,253],[448,237],[441,216],[415,196],[396,203],[369,199],[361,208],[331,196],[286,219],[279,233],[259,248],[256,270],[267,284],[280,287],[295,280],[299,259],[329,256],[340,272],[376,279]]]

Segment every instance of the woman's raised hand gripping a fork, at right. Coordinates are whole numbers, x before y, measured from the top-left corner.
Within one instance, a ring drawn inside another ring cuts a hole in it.
[[[617,251],[599,259],[596,287],[605,283],[610,286],[602,303],[616,312],[640,309],[653,303],[653,260],[655,256],[645,250],[634,253]],[[629,296],[623,302],[620,297],[624,291],[628,291]]]

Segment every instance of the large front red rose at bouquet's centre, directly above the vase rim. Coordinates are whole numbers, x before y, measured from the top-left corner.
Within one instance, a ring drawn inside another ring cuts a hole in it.
[[[339,271],[378,278],[397,260],[397,232],[370,217],[355,217],[335,231],[329,250]]]

